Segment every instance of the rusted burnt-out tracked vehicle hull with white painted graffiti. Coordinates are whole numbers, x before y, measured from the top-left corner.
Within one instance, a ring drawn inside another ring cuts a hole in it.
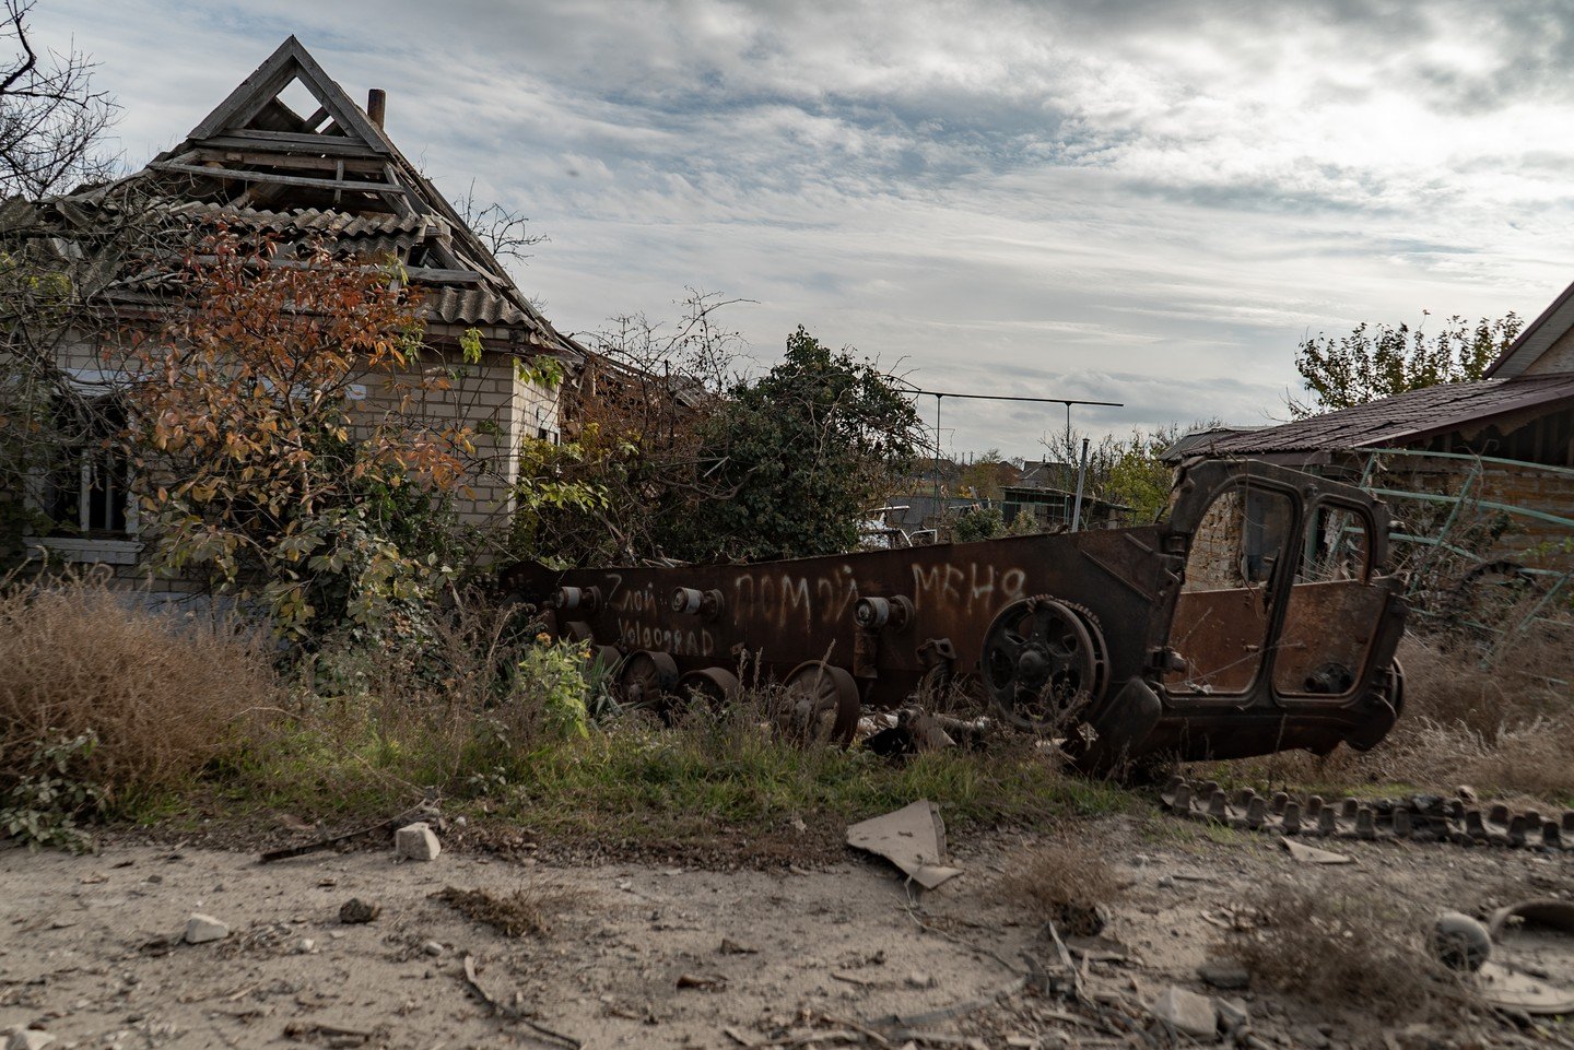
[[[1358,488],[1204,461],[1168,519],[754,565],[504,573],[625,699],[782,683],[798,726],[971,694],[1086,768],[1366,749],[1399,716],[1388,516]]]

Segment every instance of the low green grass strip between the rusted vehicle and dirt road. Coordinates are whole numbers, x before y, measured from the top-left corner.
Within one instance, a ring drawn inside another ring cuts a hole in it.
[[[663,847],[743,842],[796,822],[863,820],[918,798],[952,826],[1026,826],[1121,809],[1118,787],[1070,778],[1026,740],[891,762],[779,738],[746,699],[666,727],[637,713],[579,735],[477,741],[409,710],[365,704],[335,724],[296,719],[222,778],[225,808],[353,822],[436,786],[453,814],[556,842]],[[428,716],[441,723],[439,712]],[[474,727],[472,727],[474,732]]]

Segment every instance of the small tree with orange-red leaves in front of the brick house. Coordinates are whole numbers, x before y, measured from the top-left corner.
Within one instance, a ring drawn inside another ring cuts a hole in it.
[[[419,294],[397,268],[224,228],[183,275],[184,301],[132,354],[127,441],[156,571],[205,571],[296,639],[428,595],[450,571],[445,504],[474,446],[420,411],[449,378],[417,362]]]

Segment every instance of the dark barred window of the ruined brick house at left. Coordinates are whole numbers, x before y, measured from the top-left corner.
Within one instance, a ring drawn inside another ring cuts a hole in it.
[[[124,403],[99,397],[61,414],[66,449],[39,493],[42,512],[55,523],[52,534],[115,538],[135,532],[131,463],[116,441],[126,427]]]

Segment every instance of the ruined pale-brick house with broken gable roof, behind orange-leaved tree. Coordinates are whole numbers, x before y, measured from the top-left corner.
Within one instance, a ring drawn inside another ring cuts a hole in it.
[[[427,356],[419,367],[455,375],[449,389],[425,392],[414,411],[439,423],[458,419],[475,431],[472,477],[456,510],[472,524],[507,527],[519,442],[559,439],[560,389],[573,386],[595,356],[541,316],[482,238],[400,153],[384,132],[384,105],[376,90],[365,107],[357,105],[291,36],[179,145],[140,172],[65,197],[6,201],[0,238],[11,244],[31,238],[74,257],[77,272],[94,283],[96,310],[145,332],[181,309],[161,294],[159,280],[179,268],[201,230],[326,244],[338,258],[397,266],[422,291]],[[93,255],[104,241],[99,231],[121,222],[116,213],[131,200],[139,222],[175,231],[162,271],[139,269],[123,255]],[[105,326],[82,326],[61,338],[57,364],[83,398],[113,400],[127,376],[116,368],[113,346],[88,331]],[[460,357],[466,334],[480,340],[478,360]],[[518,367],[543,357],[557,360],[570,383],[546,386]],[[353,397],[368,412],[411,411],[376,381]],[[113,411],[104,416],[113,419]],[[118,576],[140,579],[143,543],[127,499],[127,466],[105,461],[93,442],[68,463],[28,479],[20,497],[58,527],[25,543],[35,556],[110,564]],[[0,493],[6,496],[17,497]],[[183,582],[167,587],[179,590]]]

